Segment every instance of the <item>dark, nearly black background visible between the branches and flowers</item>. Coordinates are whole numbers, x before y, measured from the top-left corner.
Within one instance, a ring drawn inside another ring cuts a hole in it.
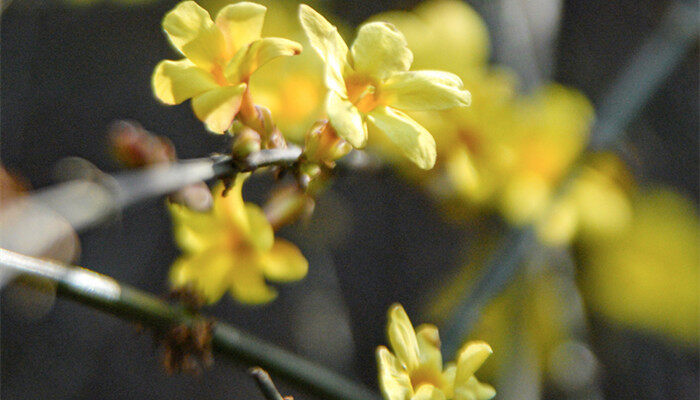
[[[358,24],[376,12],[417,3],[338,1],[331,8]],[[151,93],[153,67],[174,54],[160,29],[173,4],[10,4],[2,14],[0,38],[2,164],[33,187],[54,182],[53,167],[67,156],[116,171],[105,134],[109,123],[121,118],[170,137],[182,158],[215,150],[220,142],[203,134],[189,105],[163,107]],[[595,103],[668,5],[658,0],[566,1],[554,78],[579,88]],[[627,143],[633,155],[627,158],[640,179],[670,184],[696,202],[697,107],[696,42],[629,127]],[[262,186],[250,189],[251,198],[261,198]],[[319,234],[320,227],[328,232]],[[445,224],[427,197],[389,171],[341,175],[319,201],[310,226],[282,232],[308,256],[309,276],[282,287],[270,305],[249,308],[226,299],[212,313],[376,387],[373,353],[386,341],[386,309],[398,301],[416,315],[426,291],[444,276],[444,266],[456,265],[462,238],[471,234]],[[81,265],[150,292],[165,292],[177,250],[161,200],[126,210],[117,220],[82,234],[81,241]],[[332,318],[338,310],[349,317],[349,326]],[[313,320],[316,330],[307,332],[306,339],[295,337],[294,331],[314,315],[328,318]],[[3,307],[0,324],[3,399],[260,398],[245,369],[225,360],[200,377],[166,376],[147,334],[66,300],[56,300],[38,319]],[[606,350],[597,355],[606,371],[607,398],[698,397],[696,350],[671,348],[597,318],[592,326],[594,344]],[[339,333],[314,348],[309,338],[323,340],[324,331]],[[333,340],[337,348],[318,348]],[[610,340],[622,345],[606,348]],[[349,353],[348,343],[353,346]],[[297,399],[310,398],[278,383]]]

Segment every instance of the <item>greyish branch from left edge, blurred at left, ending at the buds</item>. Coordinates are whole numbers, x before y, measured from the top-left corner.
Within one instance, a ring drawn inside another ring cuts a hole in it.
[[[300,155],[301,149],[298,147],[261,150],[243,160],[219,155],[156,164],[118,175],[100,174],[95,180],[72,180],[54,185],[35,191],[22,201],[0,210],[0,221],[3,224],[0,246],[30,254],[43,254],[45,249],[51,248],[65,237],[65,229],[52,229],[51,221],[57,218],[67,222],[75,231],[82,231],[140,201],[237,172],[253,171],[270,165],[288,166],[295,163]],[[36,226],[45,229],[37,231]],[[26,243],[31,243],[31,251],[22,247]]]

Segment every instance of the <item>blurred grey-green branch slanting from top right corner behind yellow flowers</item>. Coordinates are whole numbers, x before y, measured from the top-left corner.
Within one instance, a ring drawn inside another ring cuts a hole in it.
[[[593,127],[588,150],[599,151],[615,146],[627,125],[697,40],[696,17],[697,5],[676,2],[670,7],[660,25],[600,102],[598,123]],[[560,182],[555,197],[567,191],[580,173],[581,165],[579,158]],[[452,308],[443,323],[445,354],[457,351],[479,320],[483,308],[517,276],[524,258],[539,245],[532,226],[509,229],[477,276],[472,289]]]

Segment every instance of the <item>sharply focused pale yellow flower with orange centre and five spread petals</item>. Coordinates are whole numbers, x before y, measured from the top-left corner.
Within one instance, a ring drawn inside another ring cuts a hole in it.
[[[306,5],[302,27],[325,63],[326,112],[339,136],[355,148],[365,146],[368,128],[383,132],[423,169],[435,164],[435,140],[402,110],[442,110],[467,106],[462,81],[443,71],[409,71],[413,54],[393,25],[360,27],[352,47],[337,29]]]

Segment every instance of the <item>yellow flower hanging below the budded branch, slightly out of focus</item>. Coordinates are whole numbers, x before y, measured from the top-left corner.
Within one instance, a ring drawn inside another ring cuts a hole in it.
[[[244,203],[239,174],[224,197],[214,190],[211,211],[200,213],[171,204],[175,239],[183,255],[170,271],[176,287],[191,286],[214,303],[228,290],[243,303],[265,303],[276,292],[265,280],[289,282],[303,278],[308,262],[293,244],[276,239],[260,207]]]

